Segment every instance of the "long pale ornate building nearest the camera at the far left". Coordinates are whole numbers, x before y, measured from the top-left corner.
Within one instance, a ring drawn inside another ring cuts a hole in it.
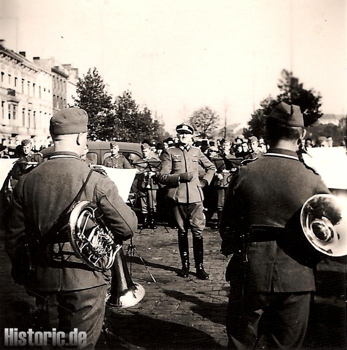
[[[0,141],[15,147],[24,138],[47,140],[53,109],[52,72],[0,40]]]

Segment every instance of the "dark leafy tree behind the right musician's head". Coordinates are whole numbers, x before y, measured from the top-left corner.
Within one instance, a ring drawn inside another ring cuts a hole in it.
[[[260,102],[260,108],[251,114],[251,119],[248,121],[249,127],[243,129],[245,137],[251,135],[263,137],[266,116],[274,105],[281,101],[300,106],[305,126],[313,124],[322,116],[319,110],[321,106],[319,92],[304,89],[303,84],[299,83],[299,79],[294,77],[292,72],[283,69],[277,86],[280,92],[276,98],[266,97]]]

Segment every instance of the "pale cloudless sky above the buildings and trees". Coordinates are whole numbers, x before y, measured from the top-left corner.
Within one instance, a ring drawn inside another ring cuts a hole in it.
[[[345,0],[0,0],[0,38],[27,58],[96,66],[168,131],[205,105],[246,123],[282,69],[347,112]]]

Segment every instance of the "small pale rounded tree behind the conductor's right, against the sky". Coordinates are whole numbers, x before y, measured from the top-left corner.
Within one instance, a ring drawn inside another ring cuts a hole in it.
[[[212,136],[219,124],[219,116],[211,108],[205,106],[193,112],[189,118],[198,136],[208,138]]]

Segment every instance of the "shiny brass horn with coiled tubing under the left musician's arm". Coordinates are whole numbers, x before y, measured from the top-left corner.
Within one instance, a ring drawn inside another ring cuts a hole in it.
[[[111,288],[107,295],[108,307],[130,307],[145,295],[144,287],[131,280],[124,258],[122,243],[103,220],[103,212],[94,202],[83,200],[71,211],[69,241],[78,257],[95,271],[111,268]]]

